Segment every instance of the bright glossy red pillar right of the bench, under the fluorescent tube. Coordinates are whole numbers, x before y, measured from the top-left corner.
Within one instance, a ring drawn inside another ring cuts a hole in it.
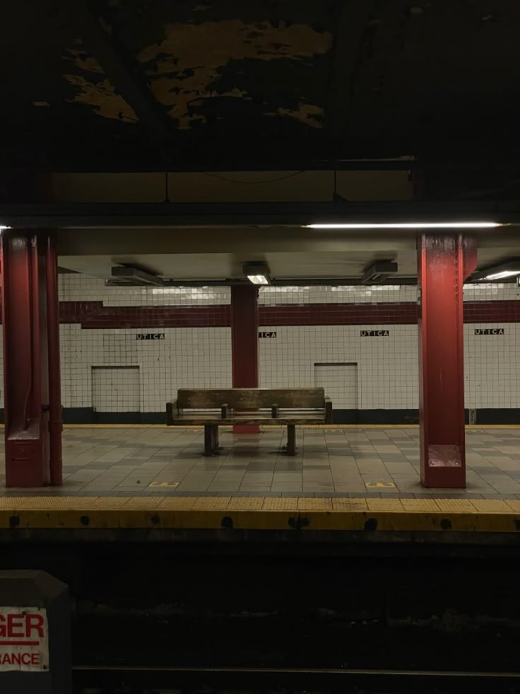
[[[466,487],[462,291],[476,263],[473,238],[420,237],[420,478],[425,487]]]

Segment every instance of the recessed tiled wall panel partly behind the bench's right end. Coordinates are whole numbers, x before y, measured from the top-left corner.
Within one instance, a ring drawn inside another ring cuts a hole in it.
[[[326,397],[332,400],[334,424],[358,421],[358,364],[314,364],[314,386],[324,388]]]

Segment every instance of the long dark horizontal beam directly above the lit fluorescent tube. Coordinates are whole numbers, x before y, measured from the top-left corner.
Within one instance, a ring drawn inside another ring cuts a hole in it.
[[[427,202],[226,202],[0,204],[0,226],[85,229],[153,226],[303,226],[354,223],[494,221],[520,224],[520,203]],[[409,230],[413,233],[413,229]],[[486,233],[500,229],[486,229]]]

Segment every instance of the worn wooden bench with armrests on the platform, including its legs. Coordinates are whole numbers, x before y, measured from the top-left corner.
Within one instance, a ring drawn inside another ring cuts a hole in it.
[[[218,427],[285,424],[287,454],[294,456],[296,424],[331,424],[332,403],[323,388],[181,388],[166,404],[174,427],[204,427],[204,455],[218,453]]]

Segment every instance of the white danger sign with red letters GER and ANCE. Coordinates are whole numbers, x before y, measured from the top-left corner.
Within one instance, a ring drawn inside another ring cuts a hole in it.
[[[0,672],[49,670],[47,610],[0,607]]]

